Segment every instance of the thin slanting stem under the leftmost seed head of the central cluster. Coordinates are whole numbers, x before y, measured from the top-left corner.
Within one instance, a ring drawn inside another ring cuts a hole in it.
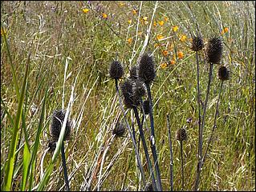
[[[120,103],[120,108],[121,108],[121,110],[122,110],[122,112],[124,114],[124,122],[125,122],[126,126],[128,127],[128,132],[130,134],[130,137],[132,138],[132,145],[133,145],[134,150],[135,150],[136,159],[137,159],[138,166],[140,168],[140,173],[141,173],[142,181],[144,183],[144,186],[146,186],[144,170],[143,170],[143,167],[142,167],[142,164],[141,164],[141,161],[140,161],[140,156],[139,156],[139,153],[138,153],[138,150],[137,150],[137,147],[136,147],[135,138],[133,138],[132,130],[131,130],[131,127],[128,124],[128,121],[127,121],[127,118],[126,118],[126,115],[125,115],[125,111],[124,111],[124,107],[123,107],[122,102],[121,102],[119,88],[118,88],[118,80],[117,79],[115,79],[115,83],[116,83],[116,94],[118,95],[118,99],[119,99],[119,103]]]

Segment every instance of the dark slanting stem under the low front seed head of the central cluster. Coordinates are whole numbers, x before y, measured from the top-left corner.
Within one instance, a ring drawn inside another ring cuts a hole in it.
[[[144,147],[144,153],[146,155],[146,159],[147,159],[147,162],[148,162],[149,175],[151,175],[151,177],[152,177],[152,186],[153,186],[153,189],[156,190],[155,176],[154,176],[154,172],[152,170],[152,164],[151,164],[149,154],[148,154],[148,147],[147,147],[147,143],[145,142],[145,139],[144,139],[144,133],[143,133],[143,130],[142,130],[142,126],[140,124],[140,118],[139,118],[139,114],[138,114],[138,110],[137,110],[136,106],[133,106],[133,110],[134,110],[136,122],[139,126],[140,138],[141,138],[141,141],[142,141],[142,145]]]

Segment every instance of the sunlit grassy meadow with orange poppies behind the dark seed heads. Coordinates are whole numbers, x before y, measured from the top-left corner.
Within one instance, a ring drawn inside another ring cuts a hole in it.
[[[70,190],[144,190],[126,125],[124,135],[112,134],[124,115],[108,74],[113,60],[121,62],[120,85],[142,52],[152,53],[156,63],[150,90],[162,188],[171,189],[170,128],[173,190],[182,188],[181,167],[184,190],[193,190],[198,106],[191,47],[197,33],[205,46],[215,36],[223,42],[221,64],[213,64],[202,154],[215,122],[216,130],[199,190],[255,190],[255,2],[250,1],[1,2],[1,190],[64,190],[62,145]],[[205,48],[198,51],[201,115],[210,66],[205,54]],[[225,82],[217,75],[220,66],[230,70]],[[63,142],[62,129],[51,151],[56,109],[67,110],[71,135]],[[124,110],[138,141],[137,116]],[[140,107],[138,112],[141,121]],[[181,166],[176,133],[184,127]],[[153,162],[148,115],[143,130]],[[139,154],[150,182],[142,142]]]

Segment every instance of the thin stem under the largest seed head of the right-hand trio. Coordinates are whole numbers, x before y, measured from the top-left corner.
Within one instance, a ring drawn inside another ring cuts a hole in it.
[[[201,160],[202,160],[202,146],[203,146],[203,130],[205,126],[205,114],[206,114],[206,108],[207,108],[207,102],[209,98],[209,90],[210,90],[210,83],[212,80],[212,74],[213,74],[213,63],[210,63],[209,65],[209,78],[208,78],[208,86],[207,86],[207,92],[206,92],[206,98],[205,98],[205,104],[204,104],[204,112],[202,116],[202,122],[201,122],[201,132],[200,132],[200,138],[199,138],[199,158],[200,161],[198,161],[197,164],[197,178],[196,178],[196,183],[195,183],[195,188],[194,190],[198,190],[199,186],[199,180],[200,180],[200,174],[201,174]]]

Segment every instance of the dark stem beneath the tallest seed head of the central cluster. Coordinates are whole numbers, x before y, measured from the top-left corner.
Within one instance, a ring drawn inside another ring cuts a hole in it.
[[[152,115],[152,98],[151,98],[151,92],[150,92],[150,86],[148,83],[146,83],[147,92],[148,92],[148,101],[149,101],[149,118],[150,118],[150,126],[151,126],[151,136],[150,136],[150,143],[151,143],[151,150],[152,155],[154,159],[154,164],[156,166],[156,180],[159,187],[159,190],[162,190],[162,184],[161,184],[161,174],[158,166],[157,161],[157,154],[156,154],[156,145],[155,145],[155,131],[154,131],[154,118]]]

